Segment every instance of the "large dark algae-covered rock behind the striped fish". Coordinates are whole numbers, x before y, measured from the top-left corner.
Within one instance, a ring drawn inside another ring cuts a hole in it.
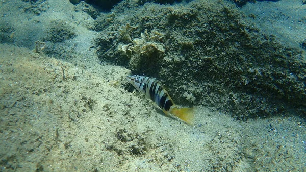
[[[291,108],[305,113],[301,50],[265,34],[234,5],[138,6],[122,1],[95,20],[103,31],[95,40],[102,61],[160,79],[179,103],[229,111],[237,119]]]

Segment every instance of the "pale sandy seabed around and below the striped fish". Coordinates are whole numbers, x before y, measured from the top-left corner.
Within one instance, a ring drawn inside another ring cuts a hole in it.
[[[37,28],[74,12],[55,2]],[[0,44],[1,171],[306,171],[305,119],[241,122],[198,106],[187,125],[125,90],[131,71],[98,64],[92,31],[78,32],[69,60],[35,53],[33,37],[29,48]]]

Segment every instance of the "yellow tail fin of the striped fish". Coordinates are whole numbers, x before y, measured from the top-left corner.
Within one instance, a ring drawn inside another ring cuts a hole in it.
[[[193,123],[195,108],[177,108],[173,107],[170,113],[184,120],[187,124]]]

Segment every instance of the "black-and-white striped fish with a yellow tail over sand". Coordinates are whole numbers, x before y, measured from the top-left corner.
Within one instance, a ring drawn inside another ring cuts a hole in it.
[[[177,107],[168,92],[158,80],[139,75],[127,76],[126,80],[147,98],[154,101],[166,115],[169,115],[169,113],[173,114],[188,124],[192,124],[194,108]]]

